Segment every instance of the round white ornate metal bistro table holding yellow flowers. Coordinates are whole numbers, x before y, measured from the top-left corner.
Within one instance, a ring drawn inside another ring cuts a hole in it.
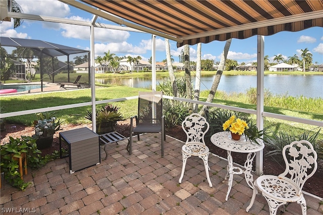
[[[240,140],[234,140],[231,138],[231,134],[228,131],[213,134],[211,136],[211,142],[214,145],[227,150],[228,166],[227,166],[227,175],[224,180],[227,180],[227,178],[229,177],[229,182],[228,182],[229,188],[228,188],[226,201],[228,200],[229,193],[231,191],[234,174],[244,173],[247,184],[253,189],[253,176],[251,174],[252,161],[256,155],[256,152],[264,148],[263,142],[261,140],[258,140],[260,144],[259,145],[255,142],[251,142],[249,139],[246,140],[244,135],[241,136]],[[233,160],[231,156],[232,151],[239,152],[239,153],[248,153],[246,162],[244,163],[244,168],[245,168],[244,171],[240,167],[233,166]]]

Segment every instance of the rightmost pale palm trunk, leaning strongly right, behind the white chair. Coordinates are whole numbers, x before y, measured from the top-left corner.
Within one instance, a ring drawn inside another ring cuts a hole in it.
[[[227,60],[229,48],[230,48],[230,45],[231,45],[231,40],[232,39],[228,39],[225,46],[224,46],[223,53],[221,55],[219,68],[218,68],[216,77],[214,78],[214,81],[212,83],[211,90],[210,90],[210,92],[209,92],[209,94],[207,96],[206,102],[212,102],[212,100],[214,98],[214,95],[216,95],[216,92],[217,92],[217,89],[218,89],[218,86],[219,86],[219,83],[220,83],[220,79],[221,79],[223,70],[224,70],[225,65],[226,65],[226,60]],[[205,115],[206,109],[207,109],[207,105],[203,105],[203,108],[201,109],[199,114],[200,115]]]

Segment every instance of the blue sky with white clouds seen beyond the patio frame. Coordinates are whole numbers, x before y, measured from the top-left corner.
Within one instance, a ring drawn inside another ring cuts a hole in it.
[[[16,0],[26,14],[67,18],[90,22],[93,15],[66,5],[57,0]],[[96,22],[115,24],[98,18]],[[39,39],[52,43],[67,45],[84,50],[90,50],[90,28],[85,26],[24,20],[23,24],[14,29],[13,20],[0,24],[0,34],[3,37],[24,39]],[[147,61],[151,56],[151,34],[121,31],[113,29],[95,28],[94,56],[103,57],[104,52],[115,53],[116,56],[140,56]],[[202,43],[201,58],[219,62],[225,41]],[[176,42],[170,40],[171,55],[175,62],[179,62],[179,55],[183,47],[177,48]],[[284,59],[297,55],[300,59],[301,49],[308,48],[312,53],[313,64],[323,63],[323,28],[312,27],[298,32],[279,32],[264,37],[264,56],[269,56],[270,63],[274,63],[275,55],[282,55]],[[11,53],[11,50],[8,51]],[[156,37],[156,61],[166,59],[165,39]],[[196,61],[196,45],[190,46],[190,61]],[[78,54],[77,56],[82,56]],[[228,59],[236,60],[238,64],[256,62],[257,36],[247,39],[232,39],[228,52]],[[61,59],[60,59],[61,60]],[[66,61],[63,60],[62,61]]]

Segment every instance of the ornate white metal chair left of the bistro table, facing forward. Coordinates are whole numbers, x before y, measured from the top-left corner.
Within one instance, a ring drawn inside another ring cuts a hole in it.
[[[186,133],[187,140],[185,145],[182,146],[183,167],[179,183],[182,183],[187,158],[190,156],[198,156],[203,160],[208,185],[212,187],[208,174],[210,168],[207,163],[209,149],[204,142],[204,135],[209,129],[209,124],[201,115],[191,114],[182,122],[182,128]]]

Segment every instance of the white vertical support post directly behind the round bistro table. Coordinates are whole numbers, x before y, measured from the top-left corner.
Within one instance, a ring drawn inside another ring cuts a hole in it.
[[[263,129],[264,36],[257,36],[257,128]],[[262,174],[263,150],[256,152],[256,175]]]

